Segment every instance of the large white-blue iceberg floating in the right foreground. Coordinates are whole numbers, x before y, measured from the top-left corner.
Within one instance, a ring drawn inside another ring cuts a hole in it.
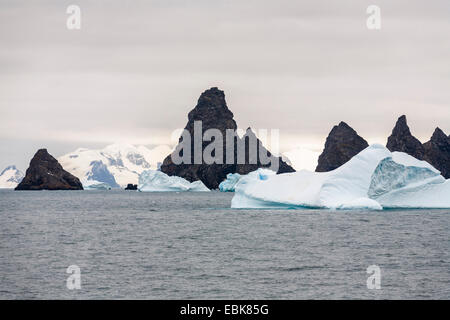
[[[233,208],[450,208],[450,182],[425,161],[372,145],[330,172],[242,177]]]

